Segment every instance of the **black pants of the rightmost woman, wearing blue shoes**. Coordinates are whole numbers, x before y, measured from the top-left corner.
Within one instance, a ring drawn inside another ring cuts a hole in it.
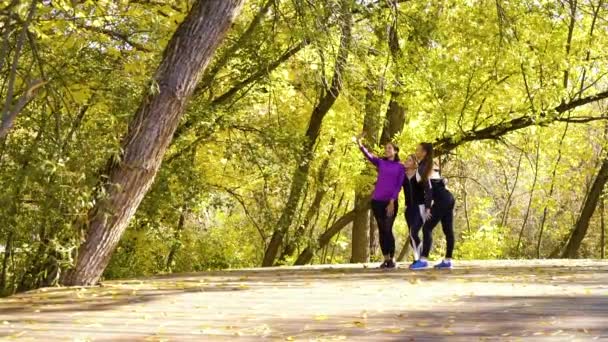
[[[433,244],[433,229],[441,222],[441,228],[445,234],[447,247],[445,251],[446,258],[452,258],[454,252],[454,198],[446,198],[445,201],[436,203],[431,208],[431,218],[424,223],[422,227],[422,256],[429,257],[431,245]]]

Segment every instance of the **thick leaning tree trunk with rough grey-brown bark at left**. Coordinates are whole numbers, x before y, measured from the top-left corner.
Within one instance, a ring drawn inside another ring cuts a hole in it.
[[[165,48],[153,78],[156,91],[142,101],[122,143],[120,161],[110,160],[105,195],[89,212],[88,231],[66,285],[95,284],[131,217],[154,181],[163,155],[199,75],[223,40],[243,0],[198,0]]]

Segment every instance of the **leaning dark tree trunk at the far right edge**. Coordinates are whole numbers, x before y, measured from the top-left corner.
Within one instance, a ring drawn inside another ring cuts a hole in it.
[[[578,254],[578,249],[581,247],[581,243],[583,242],[583,239],[587,234],[589,222],[591,221],[591,217],[595,212],[595,208],[597,207],[598,201],[600,200],[602,191],[604,190],[604,186],[606,185],[607,181],[608,157],[606,157],[602,162],[602,166],[600,167],[600,170],[597,173],[597,177],[591,185],[591,189],[589,190],[589,195],[587,196],[587,200],[583,205],[581,215],[576,221],[576,225],[572,230],[572,234],[570,234],[568,244],[566,245],[566,247],[564,248],[564,252],[562,253],[562,258],[575,258]]]

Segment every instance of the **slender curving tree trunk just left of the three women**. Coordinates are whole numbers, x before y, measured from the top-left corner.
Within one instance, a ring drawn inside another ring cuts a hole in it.
[[[302,149],[302,158],[292,177],[287,203],[264,253],[264,259],[262,261],[262,266],[264,267],[272,266],[274,264],[279,248],[283,242],[283,237],[291,226],[302,190],[304,189],[304,185],[308,178],[308,171],[310,170],[310,165],[314,157],[314,145],[319,137],[323,118],[325,118],[325,115],[336,102],[336,99],[342,90],[342,73],[346,67],[346,59],[348,57],[352,39],[352,15],[349,0],[342,0],[340,16],[342,34],[331,86],[329,89],[324,89],[321,98],[319,99],[317,106],[313,109],[312,116],[310,117],[305,135],[304,148]]]

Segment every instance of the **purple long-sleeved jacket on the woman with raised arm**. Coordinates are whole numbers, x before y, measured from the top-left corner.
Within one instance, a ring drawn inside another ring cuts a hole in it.
[[[380,159],[374,157],[371,153],[360,146],[361,152],[365,157],[378,168],[378,179],[372,199],[377,201],[390,201],[399,198],[399,191],[405,179],[405,167],[397,161]]]

